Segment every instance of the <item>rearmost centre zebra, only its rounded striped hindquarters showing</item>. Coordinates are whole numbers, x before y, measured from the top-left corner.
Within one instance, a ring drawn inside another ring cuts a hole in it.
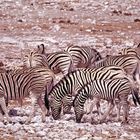
[[[89,46],[70,45],[66,51],[72,56],[74,68],[90,68],[90,65],[102,58],[96,49]]]

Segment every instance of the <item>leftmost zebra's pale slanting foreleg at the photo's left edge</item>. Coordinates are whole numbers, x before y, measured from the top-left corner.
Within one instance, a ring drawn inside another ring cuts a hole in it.
[[[11,118],[8,115],[8,111],[7,111],[7,108],[6,108],[6,103],[5,103],[4,97],[0,98],[0,105],[1,105],[1,109],[3,110],[3,112],[4,112],[4,114],[5,114],[6,118],[7,118],[7,121],[12,122]]]

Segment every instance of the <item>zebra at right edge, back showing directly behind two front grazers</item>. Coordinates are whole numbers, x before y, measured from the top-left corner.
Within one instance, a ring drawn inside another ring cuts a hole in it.
[[[122,67],[127,74],[131,75],[134,80],[140,85],[140,60],[135,55],[117,55],[108,56],[99,62],[96,62],[94,68],[102,66],[116,65]]]

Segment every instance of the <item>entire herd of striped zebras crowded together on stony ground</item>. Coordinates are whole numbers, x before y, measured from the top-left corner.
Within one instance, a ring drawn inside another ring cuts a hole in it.
[[[21,105],[25,97],[31,98],[31,122],[36,104],[42,110],[42,121],[51,114],[57,120],[62,113],[70,113],[74,107],[76,122],[80,123],[85,113],[92,114],[96,105],[100,122],[117,107],[117,120],[123,107],[122,123],[128,122],[128,96],[132,95],[135,105],[140,104],[140,45],[124,48],[116,56],[106,56],[90,46],[69,45],[66,50],[46,53],[43,44],[25,55],[24,67],[0,73],[0,120],[8,114],[8,101],[17,100]],[[58,81],[56,74],[62,73]],[[42,94],[45,94],[42,100]],[[92,100],[88,112],[84,111],[87,99]],[[108,109],[102,115],[100,101],[108,101]]]

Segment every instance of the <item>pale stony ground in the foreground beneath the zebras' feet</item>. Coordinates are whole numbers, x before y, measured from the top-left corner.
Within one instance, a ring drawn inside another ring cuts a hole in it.
[[[103,110],[106,104],[103,103]],[[30,113],[30,106],[15,107],[19,116],[12,116],[13,124],[0,123],[2,139],[44,139],[44,140],[132,140],[139,139],[139,117],[140,108],[131,106],[129,113],[129,124],[122,125],[113,117],[105,123],[97,123],[97,114],[93,114],[94,122],[91,124],[91,117],[86,116],[84,123],[76,123],[75,115],[63,115],[60,120],[53,120],[51,116],[46,117],[46,122],[41,122],[40,109],[32,118],[30,124],[22,124]]]

